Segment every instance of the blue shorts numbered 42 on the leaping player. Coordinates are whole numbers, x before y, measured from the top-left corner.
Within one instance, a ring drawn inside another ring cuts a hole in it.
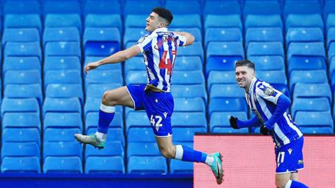
[[[174,108],[172,94],[144,91],[145,86],[146,84],[127,85],[135,111],[145,109],[156,136],[172,136],[171,116]]]

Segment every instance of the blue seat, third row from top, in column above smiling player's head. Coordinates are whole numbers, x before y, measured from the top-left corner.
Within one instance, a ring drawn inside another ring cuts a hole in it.
[[[281,42],[283,44],[282,29],[279,27],[248,28],[246,30],[246,46],[250,42]]]

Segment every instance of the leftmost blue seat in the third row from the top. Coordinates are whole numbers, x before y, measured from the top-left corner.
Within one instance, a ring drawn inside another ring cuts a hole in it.
[[[3,29],[2,45],[6,42],[40,42],[40,33],[35,28]]]

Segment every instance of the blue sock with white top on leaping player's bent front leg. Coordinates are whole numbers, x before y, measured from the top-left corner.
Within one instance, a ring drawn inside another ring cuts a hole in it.
[[[114,114],[115,114],[115,107],[109,107],[106,106],[105,104],[101,104],[99,111],[98,130],[96,132],[96,138],[99,141],[106,140],[108,127],[114,118]]]

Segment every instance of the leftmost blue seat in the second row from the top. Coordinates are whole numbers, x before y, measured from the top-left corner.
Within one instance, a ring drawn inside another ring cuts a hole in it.
[[[29,15],[5,15],[3,21],[4,28],[36,28],[38,31],[42,31],[42,22],[40,21],[40,15],[29,14]]]

